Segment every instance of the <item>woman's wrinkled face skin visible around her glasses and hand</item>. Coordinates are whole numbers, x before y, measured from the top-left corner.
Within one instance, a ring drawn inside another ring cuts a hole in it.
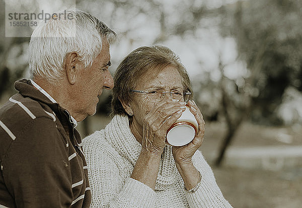
[[[153,91],[153,90],[164,90],[173,91],[178,90],[183,92],[182,79],[177,71],[177,68],[173,65],[168,65],[163,70],[154,76],[155,70],[149,70],[148,73],[138,79],[135,90],[142,91]],[[165,95],[163,99],[171,99],[170,95]],[[132,123],[135,122],[136,126],[142,129],[142,119],[144,116],[154,108],[157,102],[153,101],[146,94],[132,93],[131,101],[129,105],[133,112]]]

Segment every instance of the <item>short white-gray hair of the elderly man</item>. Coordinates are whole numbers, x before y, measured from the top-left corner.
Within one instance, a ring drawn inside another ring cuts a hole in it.
[[[70,52],[79,54],[85,68],[91,66],[101,52],[104,38],[111,43],[116,34],[96,17],[78,9],[57,12],[33,31],[29,43],[30,76],[60,80],[65,55]]]

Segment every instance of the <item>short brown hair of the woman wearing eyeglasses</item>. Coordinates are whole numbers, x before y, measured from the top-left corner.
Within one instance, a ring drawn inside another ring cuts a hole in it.
[[[143,82],[141,79],[143,75],[150,74],[155,77],[168,65],[177,68],[182,78],[183,88],[191,93],[189,99],[192,99],[191,82],[178,55],[165,46],[142,46],[129,53],[117,67],[112,89],[111,115],[128,115],[120,100],[129,102],[130,90],[135,89],[138,82]]]

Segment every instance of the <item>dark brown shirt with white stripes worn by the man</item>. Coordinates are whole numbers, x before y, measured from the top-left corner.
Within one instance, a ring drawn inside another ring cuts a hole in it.
[[[30,81],[0,109],[0,207],[89,207],[81,136]]]

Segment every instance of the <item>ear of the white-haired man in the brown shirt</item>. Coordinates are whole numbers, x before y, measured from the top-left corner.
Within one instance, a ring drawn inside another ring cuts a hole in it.
[[[71,85],[77,81],[77,76],[81,70],[81,61],[77,52],[67,53],[64,63],[66,76]]]

